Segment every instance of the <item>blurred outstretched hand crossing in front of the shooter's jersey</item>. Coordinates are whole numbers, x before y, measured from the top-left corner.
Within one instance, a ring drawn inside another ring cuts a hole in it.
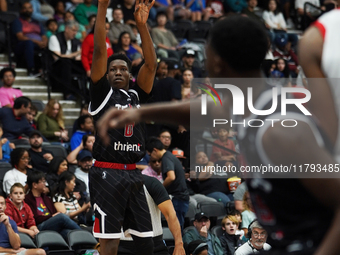
[[[138,109],[117,110],[112,108],[108,110],[98,121],[98,134],[102,138],[105,145],[110,142],[107,131],[109,129],[123,128],[129,123],[140,122],[141,116]]]

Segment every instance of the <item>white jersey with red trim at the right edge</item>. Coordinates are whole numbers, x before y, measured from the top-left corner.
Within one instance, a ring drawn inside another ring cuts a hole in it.
[[[323,37],[321,69],[333,92],[337,115],[340,121],[340,9],[322,15],[314,25]],[[340,122],[335,144],[335,155],[340,162]]]

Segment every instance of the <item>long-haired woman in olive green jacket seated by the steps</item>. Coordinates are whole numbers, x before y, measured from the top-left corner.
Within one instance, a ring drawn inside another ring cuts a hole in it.
[[[38,118],[38,130],[50,142],[68,141],[68,131],[65,130],[63,109],[55,99],[50,99]]]

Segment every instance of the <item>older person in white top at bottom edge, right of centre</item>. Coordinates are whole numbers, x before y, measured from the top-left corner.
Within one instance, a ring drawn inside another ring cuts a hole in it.
[[[267,231],[259,224],[257,220],[252,222],[249,226],[249,241],[240,246],[235,255],[248,255],[258,253],[259,251],[268,251],[271,246],[266,243]]]

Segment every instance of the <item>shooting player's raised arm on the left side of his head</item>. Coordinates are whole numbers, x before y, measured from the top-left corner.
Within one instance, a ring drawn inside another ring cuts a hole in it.
[[[107,70],[105,17],[109,0],[98,0],[98,13],[94,29],[94,51],[91,68],[91,80],[97,83]]]

